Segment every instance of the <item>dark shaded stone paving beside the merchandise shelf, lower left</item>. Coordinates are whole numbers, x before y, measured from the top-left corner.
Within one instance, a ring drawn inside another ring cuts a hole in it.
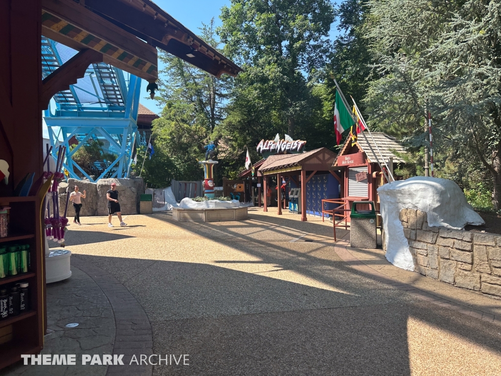
[[[78,323],[67,328],[69,323]],[[5,376],[105,376],[106,365],[84,366],[82,354],[111,354],[115,319],[108,298],[96,282],[79,268],[71,278],[47,288],[47,327],[41,354],[75,354],[75,365],[24,365],[15,363],[0,371]],[[1,354],[0,354],[1,356]]]

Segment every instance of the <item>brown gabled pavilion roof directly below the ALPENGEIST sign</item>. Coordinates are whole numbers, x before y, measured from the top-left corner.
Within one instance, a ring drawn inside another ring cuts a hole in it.
[[[332,165],[335,159],[336,153],[326,147],[321,147],[320,149],[299,154],[271,155],[261,165],[259,171],[263,175],[302,169],[307,171],[328,171],[333,170]]]

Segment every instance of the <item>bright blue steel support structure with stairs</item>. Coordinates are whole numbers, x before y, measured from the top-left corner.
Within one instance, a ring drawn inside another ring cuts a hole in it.
[[[67,46],[42,38],[43,78],[75,54],[76,51]],[[67,156],[63,165],[70,177],[79,179],[83,175],[96,181],[104,177],[129,176],[136,142],[140,89],[139,77],[108,64],[97,63],[88,67],[77,84],[53,97],[44,113],[53,146],[52,157],[57,159],[59,145],[66,146]],[[104,162],[96,161],[92,166],[78,165],[73,156],[91,138],[103,144],[106,154],[116,157]],[[76,146],[70,143],[76,143]],[[71,151],[70,146],[73,146]],[[82,167],[88,167],[88,171],[92,168],[99,174],[93,178]]]

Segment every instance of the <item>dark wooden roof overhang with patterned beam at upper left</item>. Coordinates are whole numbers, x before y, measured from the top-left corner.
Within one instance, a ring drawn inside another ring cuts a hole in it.
[[[149,82],[160,48],[216,77],[241,68],[150,0],[42,0],[42,34]]]

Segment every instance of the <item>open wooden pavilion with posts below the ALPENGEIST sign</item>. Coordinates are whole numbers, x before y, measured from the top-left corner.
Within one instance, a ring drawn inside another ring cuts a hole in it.
[[[264,182],[264,209],[268,212],[267,205],[267,184],[271,176],[277,176],[277,181],[281,182],[285,178],[286,183],[294,182],[298,187],[301,187],[301,221],[307,221],[307,193],[306,184],[317,173],[332,174],[334,178],[343,184],[343,180],[338,176],[336,168],[333,166],[336,159],[336,153],[322,147],[320,149],[307,151],[299,154],[282,154],[271,155],[259,167],[259,172],[263,176]],[[282,200],[281,190],[277,190],[279,195],[278,202]],[[278,215],[282,215],[282,205],[278,205]]]

